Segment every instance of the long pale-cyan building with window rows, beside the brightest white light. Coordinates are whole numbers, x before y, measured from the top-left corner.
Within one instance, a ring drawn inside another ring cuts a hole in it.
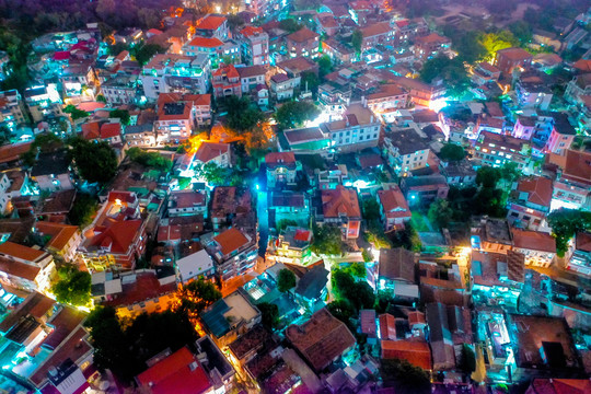
[[[321,124],[321,131],[333,141],[333,147],[341,151],[358,151],[378,146],[381,129],[380,119],[362,104],[347,107],[340,120]]]

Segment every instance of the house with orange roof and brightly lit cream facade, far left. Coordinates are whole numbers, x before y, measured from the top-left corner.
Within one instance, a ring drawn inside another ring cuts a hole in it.
[[[35,223],[35,232],[42,236],[48,236],[49,241],[45,248],[63,260],[74,262],[78,246],[82,242],[80,230],[77,225],[38,221]]]

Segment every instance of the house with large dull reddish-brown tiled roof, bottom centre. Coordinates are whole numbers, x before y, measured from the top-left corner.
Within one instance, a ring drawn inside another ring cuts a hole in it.
[[[345,323],[326,309],[321,309],[301,325],[290,325],[286,338],[316,372],[326,369],[356,344]]]

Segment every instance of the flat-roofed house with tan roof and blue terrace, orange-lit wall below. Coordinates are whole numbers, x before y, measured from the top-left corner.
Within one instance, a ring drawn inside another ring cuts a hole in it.
[[[202,311],[200,317],[213,341],[224,347],[260,324],[262,314],[248,293],[239,288]]]

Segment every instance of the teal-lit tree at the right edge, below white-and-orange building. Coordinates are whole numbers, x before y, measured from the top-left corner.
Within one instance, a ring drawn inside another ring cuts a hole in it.
[[[568,242],[573,235],[578,232],[591,231],[591,212],[560,208],[548,215],[547,222],[556,239],[556,252],[561,257],[568,250]]]

